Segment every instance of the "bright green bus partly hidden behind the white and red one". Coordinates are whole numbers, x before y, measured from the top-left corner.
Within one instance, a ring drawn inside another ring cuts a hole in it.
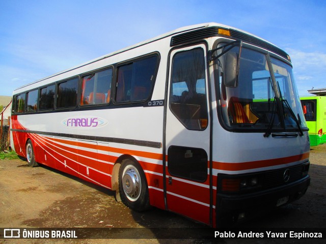
[[[309,128],[310,145],[326,142],[326,97],[300,98]]]

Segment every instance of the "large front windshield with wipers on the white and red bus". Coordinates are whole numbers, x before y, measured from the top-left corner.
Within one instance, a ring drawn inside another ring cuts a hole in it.
[[[240,59],[232,64],[227,55]],[[293,80],[292,68],[280,59],[245,47],[234,47],[219,58],[221,112],[231,129],[301,131],[307,127]],[[237,70],[229,82],[229,67]],[[234,68],[236,67],[236,68]]]

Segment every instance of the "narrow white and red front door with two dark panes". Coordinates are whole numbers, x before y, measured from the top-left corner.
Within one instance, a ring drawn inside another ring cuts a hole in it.
[[[209,224],[209,106],[206,46],[170,55],[166,116],[167,208]]]

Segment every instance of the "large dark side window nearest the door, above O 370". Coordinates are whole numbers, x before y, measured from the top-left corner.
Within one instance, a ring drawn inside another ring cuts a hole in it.
[[[116,102],[138,102],[149,98],[154,85],[157,56],[118,67]]]

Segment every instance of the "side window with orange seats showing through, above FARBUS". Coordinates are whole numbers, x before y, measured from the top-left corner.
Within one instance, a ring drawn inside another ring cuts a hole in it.
[[[83,77],[80,105],[105,104],[111,100],[112,69]]]

